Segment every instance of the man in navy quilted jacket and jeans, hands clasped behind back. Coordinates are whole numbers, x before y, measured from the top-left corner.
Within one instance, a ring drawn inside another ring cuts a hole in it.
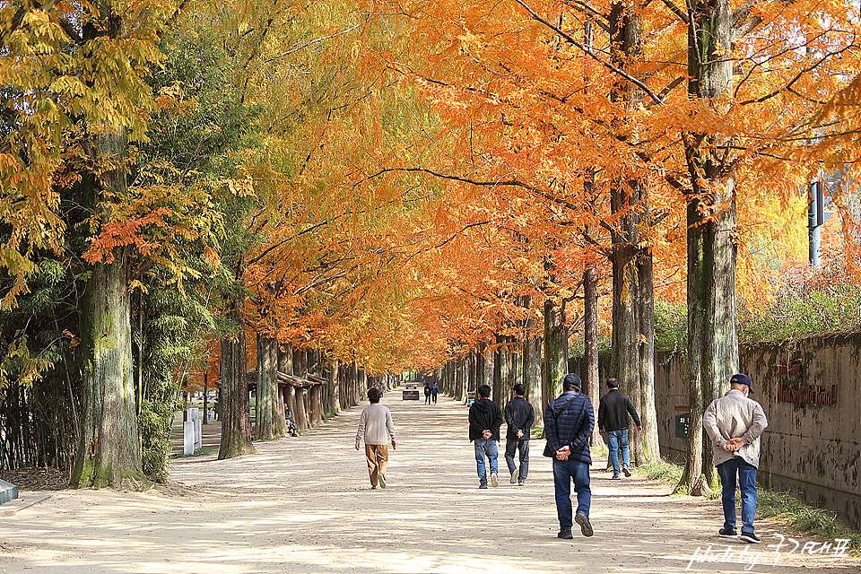
[[[571,526],[580,526],[584,536],[593,534],[589,522],[592,491],[589,489],[589,435],[595,427],[595,413],[589,397],[580,393],[580,378],[574,373],[562,379],[563,393],[547,404],[544,433],[553,457],[553,487],[559,538],[573,538]],[[571,479],[577,492],[577,514],[571,516]],[[572,520],[573,518],[573,520]]]

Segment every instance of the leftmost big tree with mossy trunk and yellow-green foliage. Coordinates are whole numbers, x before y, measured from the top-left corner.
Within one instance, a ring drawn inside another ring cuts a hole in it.
[[[161,58],[158,34],[176,9],[163,3],[121,4],[84,8],[23,2],[2,8],[0,83],[8,86],[4,113],[16,118],[2,150],[2,186],[4,196],[22,198],[4,213],[5,221],[15,222],[4,264],[22,276],[27,265],[13,252],[26,257],[20,248],[57,248],[53,241],[62,223],[52,185],[61,169],[65,181],[83,188],[92,213],[94,240],[86,256],[92,267],[81,326],[85,408],[72,477],[77,486],[145,482],[129,286],[137,255],[166,255],[158,239],[143,238],[159,226],[171,227],[175,213],[170,207],[153,209],[146,190],[129,186],[126,155],[130,141],[144,138],[145,112],[155,109],[143,79]],[[45,232],[31,235],[28,226]],[[154,235],[167,233],[155,230]],[[7,300],[15,292],[7,293]]]

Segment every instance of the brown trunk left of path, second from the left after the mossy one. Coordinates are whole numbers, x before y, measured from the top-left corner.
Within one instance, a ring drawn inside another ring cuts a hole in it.
[[[239,326],[239,331],[222,339],[222,443],[218,449],[219,459],[254,452],[246,379],[244,303],[242,298],[231,301],[227,317]]]

